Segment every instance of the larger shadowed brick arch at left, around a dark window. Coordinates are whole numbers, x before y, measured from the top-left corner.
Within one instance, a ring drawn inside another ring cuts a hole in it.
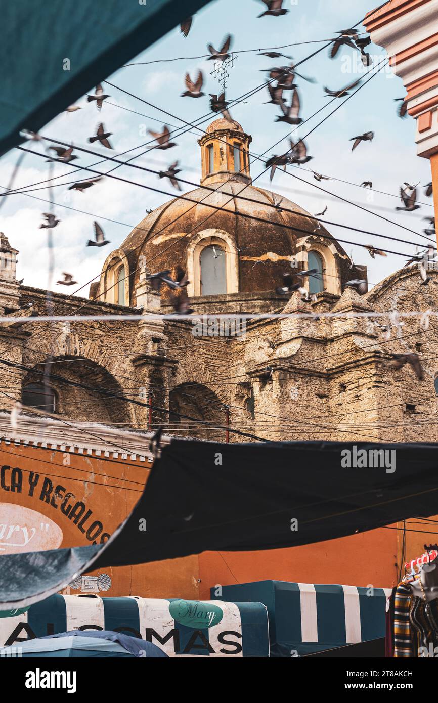
[[[64,383],[56,376],[78,382],[86,388]],[[120,399],[124,395],[120,382],[103,366],[85,356],[63,354],[34,363],[32,370],[22,379],[22,387],[30,383],[43,383],[51,388],[57,397],[56,412],[73,420],[92,417],[96,423],[117,423],[122,427],[131,427],[134,421],[132,406]],[[109,396],[99,393],[97,387],[108,390]]]

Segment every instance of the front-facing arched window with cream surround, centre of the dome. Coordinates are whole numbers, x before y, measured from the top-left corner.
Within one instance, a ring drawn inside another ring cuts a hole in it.
[[[238,250],[228,233],[219,229],[198,232],[187,247],[186,259],[188,296],[238,292]]]

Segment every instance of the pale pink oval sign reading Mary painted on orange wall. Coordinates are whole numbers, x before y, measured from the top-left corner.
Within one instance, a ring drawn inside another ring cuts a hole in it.
[[[57,549],[63,531],[41,512],[13,503],[0,503],[0,555]]]

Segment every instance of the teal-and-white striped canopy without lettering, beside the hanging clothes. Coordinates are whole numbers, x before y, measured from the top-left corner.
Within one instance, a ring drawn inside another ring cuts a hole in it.
[[[271,657],[302,657],[385,637],[390,593],[391,588],[255,581],[223,586],[221,598],[264,603]]]

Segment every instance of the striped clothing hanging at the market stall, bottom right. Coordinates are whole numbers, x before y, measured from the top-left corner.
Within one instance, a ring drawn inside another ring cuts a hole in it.
[[[438,645],[438,598],[427,602],[399,583],[394,600],[394,657],[420,656],[420,647]]]

